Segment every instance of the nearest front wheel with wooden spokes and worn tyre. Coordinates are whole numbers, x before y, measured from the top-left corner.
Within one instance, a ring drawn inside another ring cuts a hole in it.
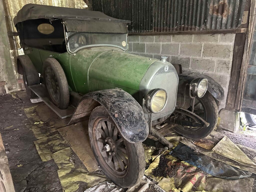
[[[140,181],[145,171],[142,143],[124,140],[103,106],[90,115],[89,137],[98,164],[114,183],[128,188]]]

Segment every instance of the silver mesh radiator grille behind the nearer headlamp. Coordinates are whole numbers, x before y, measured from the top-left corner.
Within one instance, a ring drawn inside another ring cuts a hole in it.
[[[175,72],[157,74],[153,78],[149,86],[149,90],[156,88],[164,89],[167,92],[167,103],[163,111],[157,114],[153,113],[152,117],[160,116],[163,113],[174,110],[176,103],[177,86],[178,78]]]

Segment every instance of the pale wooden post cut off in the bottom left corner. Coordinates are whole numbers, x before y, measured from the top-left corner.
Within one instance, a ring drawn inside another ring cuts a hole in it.
[[[0,133],[0,191],[15,192],[4,143]]]

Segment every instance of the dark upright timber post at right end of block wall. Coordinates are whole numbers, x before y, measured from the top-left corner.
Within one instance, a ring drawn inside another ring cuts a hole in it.
[[[227,102],[226,102],[226,109],[230,111],[235,111],[235,101],[236,101],[237,91],[238,91],[237,85],[239,83],[245,41],[246,41],[245,33],[236,34],[235,42],[234,42],[231,74],[230,74],[229,87],[228,87]]]

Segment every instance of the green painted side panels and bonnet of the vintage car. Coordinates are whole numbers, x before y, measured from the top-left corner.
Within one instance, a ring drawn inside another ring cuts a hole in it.
[[[135,99],[138,99],[144,74],[158,60],[125,53],[113,47],[84,48],[75,55],[33,48],[28,55],[39,73],[42,73],[42,63],[47,58],[55,58],[66,74],[70,89],[82,95],[118,87]]]

